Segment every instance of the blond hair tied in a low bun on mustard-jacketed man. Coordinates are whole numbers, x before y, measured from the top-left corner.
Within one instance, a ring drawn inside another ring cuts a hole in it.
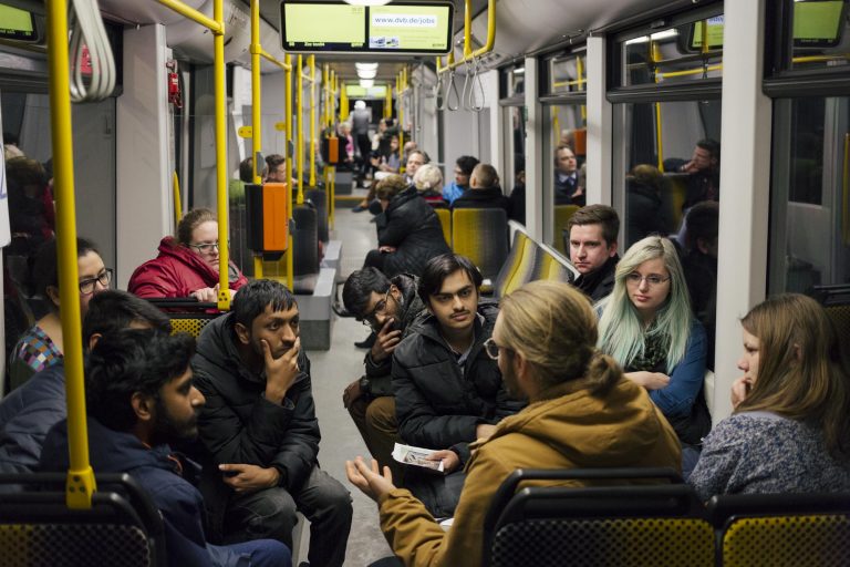
[[[597,350],[597,317],[587,296],[560,281],[526,284],[501,299],[504,347],[521,352],[542,389],[587,378],[603,393],[622,378]]]

